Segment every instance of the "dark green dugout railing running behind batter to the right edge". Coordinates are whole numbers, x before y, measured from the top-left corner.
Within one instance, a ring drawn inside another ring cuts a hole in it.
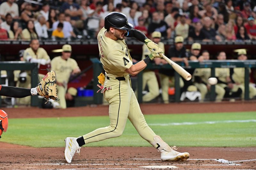
[[[102,66],[98,58],[91,59],[93,63],[93,78],[97,80],[97,76],[102,72]],[[215,77],[215,68],[236,68],[236,67],[244,67],[245,75],[244,75],[244,100],[249,100],[249,68],[256,68],[256,60],[206,60],[204,62],[196,62],[189,61],[189,66],[185,67],[184,63],[178,63],[184,69],[196,69],[196,68],[211,68],[211,77]],[[154,63],[149,63],[148,66],[144,70],[159,70],[159,69],[173,69],[169,64],[164,65],[156,65]],[[138,87],[138,102],[142,102],[142,73],[140,72],[137,75],[137,87]],[[180,75],[175,71],[175,94],[174,100],[175,102],[180,101]],[[97,84],[98,81],[94,81],[94,103],[100,104],[102,102],[102,95],[99,95],[97,92]],[[211,86],[210,92],[210,100],[215,100],[215,85]]]

